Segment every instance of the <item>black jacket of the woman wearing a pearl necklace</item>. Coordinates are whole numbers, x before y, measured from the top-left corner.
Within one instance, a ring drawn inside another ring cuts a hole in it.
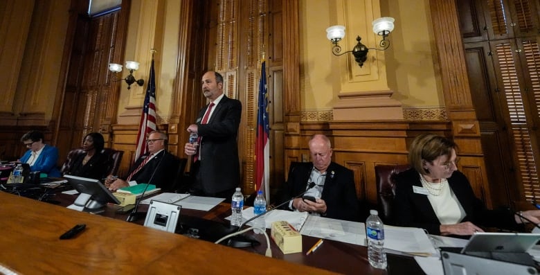
[[[418,172],[411,168],[400,172],[395,180],[393,206],[395,224],[399,227],[420,227],[430,234],[440,235],[440,222],[427,195],[413,192],[413,186],[422,187]],[[465,211],[466,216],[461,222],[472,222],[485,227],[519,229],[511,211],[486,209],[484,203],[474,195],[469,180],[462,172],[453,172],[447,180]]]

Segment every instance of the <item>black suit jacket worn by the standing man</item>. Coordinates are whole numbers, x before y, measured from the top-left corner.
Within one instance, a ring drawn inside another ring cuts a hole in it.
[[[200,186],[206,193],[219,193],[240,184],[237,134],[242,115],[239,100],[223,96],[207,124],[201,124],[206,107],[197,118],[201,136]]]

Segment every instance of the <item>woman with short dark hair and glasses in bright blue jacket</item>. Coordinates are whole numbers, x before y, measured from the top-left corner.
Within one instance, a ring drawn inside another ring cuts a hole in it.
[[[60,170],[56,167],[58,149],[44,143],[45,136],[39,131],[30,131],[21,137],[22,143],[28,151],[19,159],[21,163],[28,163],[30,171],[39,171],[47,177],[60,177]]]

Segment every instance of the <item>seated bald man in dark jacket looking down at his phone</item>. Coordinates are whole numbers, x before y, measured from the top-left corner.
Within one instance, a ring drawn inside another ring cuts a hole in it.
[[[315,198],[315,202],[302,197],[293,199],[284,209],[309,212],[339,220],[359,220],[359,206],[354,175],[351,170],[332,162],[332,143],[323,134],[309,140],[312,162],[300,163],[289,174],[282,190],[281,202],[303,193]]]

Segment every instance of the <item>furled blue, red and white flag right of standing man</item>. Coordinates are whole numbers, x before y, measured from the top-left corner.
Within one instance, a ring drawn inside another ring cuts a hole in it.
[[[267,75],[262,60],[259,81],[257,140],[255,142],[255,190],[262,190],[270,199],[270,124],[268,116]]]

